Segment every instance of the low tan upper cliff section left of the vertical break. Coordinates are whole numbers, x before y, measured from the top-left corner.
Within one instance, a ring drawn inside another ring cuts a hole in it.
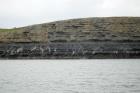
[[[7,29],[6,31],[0,29],[0,42],[46,42],[48,40],[46,31],[41,28],[34,28],[33,30],[30,28],[32,27]]]

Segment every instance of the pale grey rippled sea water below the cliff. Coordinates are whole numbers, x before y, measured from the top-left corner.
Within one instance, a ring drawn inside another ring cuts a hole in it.
[[[140,60],[0,60],[0,93],[140,93]]]

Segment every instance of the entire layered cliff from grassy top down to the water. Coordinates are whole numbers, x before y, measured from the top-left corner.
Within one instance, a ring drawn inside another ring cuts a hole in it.
[[[0,29],[0,58],[140,58],[140,17],[81,18]]]

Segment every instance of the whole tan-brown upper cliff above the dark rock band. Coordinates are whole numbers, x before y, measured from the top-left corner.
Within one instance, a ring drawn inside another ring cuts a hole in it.
[[[139,17],[83,18],[0,31],[1,42],[139,41]]]

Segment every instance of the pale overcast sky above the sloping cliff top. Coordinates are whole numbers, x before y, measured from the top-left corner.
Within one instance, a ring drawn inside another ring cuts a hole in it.
[[[140,0],[0,0],[0,28],[110,16],[140,16]]]

